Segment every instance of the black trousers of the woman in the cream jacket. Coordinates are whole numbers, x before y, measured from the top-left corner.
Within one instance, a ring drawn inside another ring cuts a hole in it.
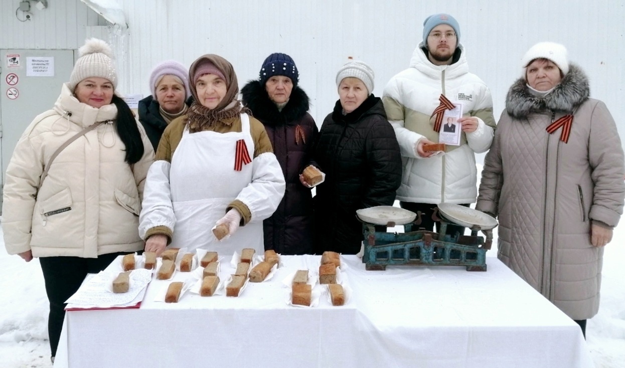
[[[50,350],[53,357],[56,356],[61,329],[63,329],[65,301],[78,291],[87,274],[97,274],[103,271],[120,254],[128,254],[128,252],[102,254],[98,258],[39,258],[43,278],[46,281],[47,300],[50,302],[47,332],[50,336]]]

